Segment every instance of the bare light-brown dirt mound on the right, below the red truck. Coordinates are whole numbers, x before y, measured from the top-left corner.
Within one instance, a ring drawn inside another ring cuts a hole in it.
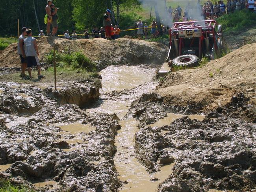
[[[256,44],[245,45],[202,68],[180,70],[166,76],[156,91],[171,105],[194,103],[197,112],[226,105],[236,92],[256,103]]]

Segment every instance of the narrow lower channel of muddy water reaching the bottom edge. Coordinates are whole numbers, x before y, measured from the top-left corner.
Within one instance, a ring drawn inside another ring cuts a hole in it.
[[[134,134],[139,131],[135,119],[119,121],[122,128],[116,136],[117,153],[114,157],[119,179],[127,181],[120,189],[121,192],[154,192],[159,183],[163,182],[172,173],[174,164],[163,166],[156,174],[149,174],[134,154]],[[158,181],[150,181],[157,177]]]

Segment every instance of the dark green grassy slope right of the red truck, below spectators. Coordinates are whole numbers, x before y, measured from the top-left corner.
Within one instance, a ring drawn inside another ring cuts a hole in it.
[[[249,12],[248,10],[223,15],[217,19],[217,22],[222,25],[224,35],[244,31],[245,28],[256,24],[255,13]]]

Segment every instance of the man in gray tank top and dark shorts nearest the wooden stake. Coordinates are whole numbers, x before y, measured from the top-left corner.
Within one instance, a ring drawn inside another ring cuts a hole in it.
[[[28,74],[30,79],[32,79],[31,68],[33,66],[37,66],[38,79],[45,78],[45,76],[41,75],[41,66],[38,59],[38,48],[37,42],[34,37],[32,37],[32,30],[27,29],[26,33],[28,37],[24,40],[25,54],[28,61]]]

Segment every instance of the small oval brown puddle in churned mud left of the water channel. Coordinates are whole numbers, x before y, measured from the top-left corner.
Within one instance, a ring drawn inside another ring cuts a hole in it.
[[[69,133],[71,133],[73,135],[78,134],[78,133],[89,133],[91,131],[95,131],[95,129],[96,129],[96,127],[90,126],[89,124],[82,125],[80,123],[63,125],[63,126],[60,126],[60,128],[63,131],[68,131]]]

